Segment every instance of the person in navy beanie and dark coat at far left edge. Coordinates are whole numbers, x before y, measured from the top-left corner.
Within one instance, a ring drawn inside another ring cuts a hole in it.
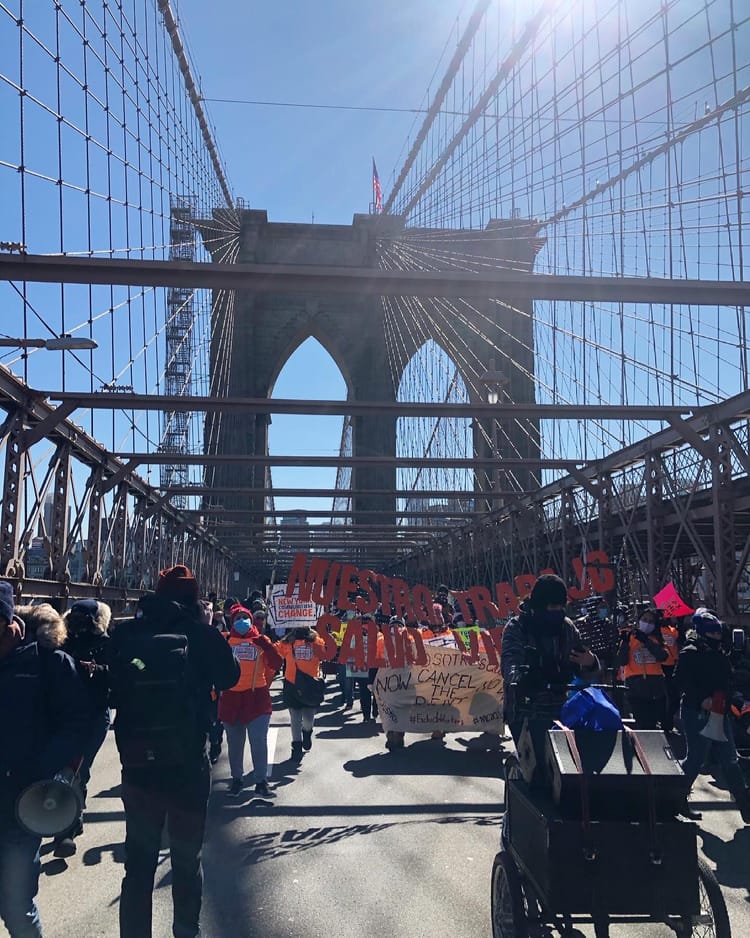
[[[15,816],[21,792],[75,764],[91,734],[91,708],[72,658],[24,643],[13,587],[0,581],[0,920],[10,938],[41,938],[35,897],[41,838]]]

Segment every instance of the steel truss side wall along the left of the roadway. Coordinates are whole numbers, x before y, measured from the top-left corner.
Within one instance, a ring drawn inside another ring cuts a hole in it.
[[[159,491],[136,475],[134,466],[123,465],[59,409],[30,395],[29,389],[2,367],[0,407],[8,413],[0,427],[0,446],[5,449],[0,573],[14,580],[19,591],[29,588],[26,561],[37,524],[42,526],[49,581],[45,592],[35,588],[34,595],[62,600],[93,591],[124,602],[133,590],[153,586],[168,559],[182,561],[185,555],[194,558],[196,575],[204,587],[218,588],[226,583],[230,555],[213,534],[166,504],[149,518],[147,509],[158,502]],[[40,427],[41,434],[37,432]],[[31,448],[42,439],[53,443],[55,451],[40,485]],[[72,501],[73,460],[89,469],[78,504]],[[42,503],[48,494],[51,514],[42,524]],[[35,504],[22,518],[24,495],[31,495]],[[147,544],[151,545],[148,556]],[[85,583],[71,582],[76,551],[81,555]],[[38,580],[38,576],[30,579]]]

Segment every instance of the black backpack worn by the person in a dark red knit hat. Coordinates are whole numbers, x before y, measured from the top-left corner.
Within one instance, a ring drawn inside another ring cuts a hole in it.
[[[136,619],[114,644],[110,681],[123,768],[175,768],[195,759],[204,734],[187,635],[156,632]]]

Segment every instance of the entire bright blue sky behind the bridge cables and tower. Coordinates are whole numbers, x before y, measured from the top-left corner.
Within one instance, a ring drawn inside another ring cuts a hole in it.
[[[466,111],[471,106],[472,95],[484,89],[487,75],[538,2],[495,0],[490,5],[486,48],[483,51],[482,33],[476,56],[468,56],[466,71],[458,76],[449,107]],[[265,209],[273,221],[309,221],[314,216],[318,223],[350,224],[353,214],[367,211],[371,200],[372,157],[388,193],[421,115],[247,106],[212,99],[360,108],[424,106],[429,100],[427,89],[434,93],[437,88],[475,0],[172,3],[208,99],[207,110],[235,195]],[[17,25],[20,5],[21,0],[6,0],[0,13],[0,47],[11,53],[0,65],[0,124],[9,130],[0,135],[0,237],[23,238],[33,252],[106,253],[111,249],[138,253],[142,246],[147,257],[149,251],[163,256],[168,251],[164,242],[169,241],[171,197],[200,193],[198,210],[203,212],[220,202],[220,194],[205,153],[186,158],[182,141],[189,138],[192,145],[193,131],[185,134],[184,118],[193,126],[195,122],[179,76],[173,81],[176,68],[156,3],[127,0],[125,13],[117,14],[112,4],[89,4],[85,13],[79,4],[55,7],[27,2],[23,41]],[[616,39],[617,24],[612,17],[617,7],[591,0],[561,0],[547,22],[547,37],[540,39],[517,76],[498,95],[495,109],[504,115],[505,123],[496,121],[489,138],[478,128],[476,139],[469,140],[465,152],[456,157],[456,165],[445,169],[446,178],[455,180],[459,190],[464,184],[467,191],[476,185],[475,170],[483,185],[497,182],[494,199],[472,202],[467,197],[464,204],[463,197],[444,197],[448,190],[438,180],[436,197],[425,200],[422,223],[479,227],[487,221],[488,212],[510,217],[516,210],[522,217],[545,217],[566,201],[570,204],[599,178],[616,174],[623,152],[627,164],[644,149],[659,144],[668,126],[682,127],[696,115],[710,113],[732,93],[735,83],[744,87],[750,66],[746,57],[737,55],[736,68],[732,67],[734,33],[728,26],[729,6],[708,8],[708,31],[715,37],[710,48],[705,44],[707,24],[699,15],[701,7],[702,0],[684,0],[680,15],[691,9],[693,15],[679,24],[677,13],[671,14],[670,54],[683,58],[679,64],[675,59],[667,83],[660,67],[662,24],[657,18],[649,20],[648,28],[644,26],[649,19],[645,6],[634,5],[629,22],[632,36],[627,49],[634,61],[627,71],[616,67],[620,61],[616,56],[600,55],[601,43],[608,47]],[[127,34],[128,17],[133,22],[138,19],[143,35],[140,18],[146,12],[151,30],[145,32],[157,49],[160,44],[165,47],[166,58],[154,49],[150,56],[141,55],[130,44],[120,69],[127,85],[123,94],[117,69],[105,67],[115,54],[112,36],[119,35],[120,29]],[[597,30],[584,30],[590,49],[576,44],[576,30],[585,26],[578,13],[597,21]],[[88,54],[85,50],[82,54],[80,41],[84,26],[95,40],[86,47]],[[746,19],[744,31],[736,37],[737,51],[746,45],[748,28],[750,20]],[[102,41],[101,30],[109,37],[107,43]],[[57,42],[64,62],[59,70]],[[583,51],[587,62],[599,64],[592,65],[580,81],[567,81],[579,76]],[[537,69],[544,67],[550,55],[556,67],[540,77]],[[608,133],[604,128],[619,119],[618,89],[623,77],[626,84],[633,84],[632,100],[625,107],[623,127],[617,134]],[[18,82],[24,85],[25,98],[19,97]],[[144,88],[149,89],[147,103]],[[112,107],[105,106],[105,100],[113,102]],[[22,108],[26,114],[23,135]],[[58,108],[64,115],[61,122],[55,116]],[[589,119],[600,108],[609,115],[609,124],[596,116]],[[639,115],[638,120],[631,112]],[[563,121],[559,132],[558,113]],[[149,115],[151,129],[168,128],[156,145],[145,132],[143,114]],[[586,127],[583,155],[579,152],[579,115]],[[460,115],[444,114],[435,130],[437,138],[445,132],[443,118],[461,121]],[[452,126],[449,121],[448,125]],[[628,176],[620,191],[607,191],[594,199],[587,209],[590,225],[576,215],[548,229],[548,248],[540,254],[538,269],[576,272],[593,263],[601,273],[642,275],[649,271],[659,276],[668,275],[674,262],[678,276],[737,276],[744,216],[732,192],[741,190],[748,152],[745,142],[750,139],[747,126],[746,121],[738,124],[727,114],[719,125],[681,144],[673,156],[649,162]],[[738,127],[740,135],[735,140]],[[108,151],[110,138],[114,155]],[[485,142],[494,149],[485,151]],[[428,137],[423,148],[425,164],[439,148],[440,140]],[[735,165],[738,155],[739,166]],[[148,177],[146,184],[139,178],[141,167]],[[60,188],[58,176],[63,180]],[[677,180],[671,207],[663,195],[668,178],[673,183]],[[619,240],[624,245],[620,260]],[[33,353],[27,363],[17,351],[0,355],[17,371],[26,368],[32,386],[52,389],[62,383],[68,390],[100,391],[114,383],[161,390],[165,291],[108,287],[89,291],[31,284],[25,299],[24,310],[20,294],[0,284],[0,306],[6,311],[2,331],[46,335],[72,330],[90,334],[100,345],[97,352],[79,355],[77,360],[72,353]],[[196,370],[207,360],[207,318],[204,306],[197,317]],[[621,314],[616,306],[589,309],[581,304],[556,304],[551,308],[538,303],[537,395],[540,399],[558,395],[555,399],[573,402],[601,395],[605,400],[622,398],[631,403],[669,401],[673,394],[692,401],[696,389],[699,403],[726,396],[740,382],[746,383],[738,366],[744,351],[736,342],[739,318],[734,310],[710,308],[628,307]],[[502,335],[502,330],[496,330],[489,337],[499,356],[503,354]],[[679,381],[672,378],[675,374]],[[194,390],[202,390],[199,385],[196,381]],[[328,356],[308,341],[290,359],[275,393],[340,398],[345,388]],[[124,411],[114,417],[102,411],[95,416],[79,414],[77,419],[115,451],[155,448],[159,441],[156,415],[135,415],[131,420]],[[610,438],[609,431],[600,434],[593,422],[580,423],[573,432],[562,425],[557,436],[557,431],[551,436],[545,431],[545,451],[592,456],[611,445],[624,445],[626,430],[631,430],[619,429],[621,436]],[[637,425],[632,433],[640,433]],[[593,449],[588,450],[590,437]],[[338,419],[276,418],[271,448],[276,454],[335,453],[339,439]],[[200,429],[191,445],[202,448]],[[277,486],[298,487],[303,481],[329,487],[333,477],[332,472],[295,476],[277,470],[275,481]]]

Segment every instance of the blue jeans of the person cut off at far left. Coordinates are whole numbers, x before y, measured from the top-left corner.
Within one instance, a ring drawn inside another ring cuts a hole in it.
[[[0,829],[0,918],[10,938],[42,938],[34,897],[39,889],[39,844],[11,823]]]

